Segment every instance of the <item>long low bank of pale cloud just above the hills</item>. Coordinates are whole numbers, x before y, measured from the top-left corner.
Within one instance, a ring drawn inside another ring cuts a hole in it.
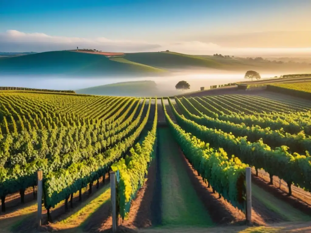
[[[166,43],[149,43],[146,41],[111,40],[105,37],[80,38],[51,36],[44,33],[24,33],[7,30],[0,33],[0,51],[2,52],[44,52],[52,50],[69,50],[79,48],[96,48],[107,52],[147,52],[170,50],[188,54],[213,54],[255,56],[257,54],[307,54],[311,48],[230,48],[215,43],[201,41],[179,41]]]

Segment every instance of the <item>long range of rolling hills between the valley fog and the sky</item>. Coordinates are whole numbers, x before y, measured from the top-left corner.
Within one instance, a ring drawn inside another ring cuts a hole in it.
[[[245,58],[224,59],[174,52],[127,53],[122,57],[52,51],[0,58],[0,75],[162,76],[191,69],[258,72],[311,72],[310,64],[275,63]]]

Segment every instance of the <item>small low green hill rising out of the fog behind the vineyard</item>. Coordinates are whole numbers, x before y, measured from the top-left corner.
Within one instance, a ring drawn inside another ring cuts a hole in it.
[[[176,90],[162,90],[154,81],[119,82],[76,90],[78,94],[112,95],[112,96],[169,96],[179,94]]]

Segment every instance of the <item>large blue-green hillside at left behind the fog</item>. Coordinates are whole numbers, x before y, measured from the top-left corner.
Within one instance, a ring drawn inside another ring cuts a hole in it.
[[[0,74],[144,76],[165,73],[151,66],[98,54],[52,51],[0,59]]]

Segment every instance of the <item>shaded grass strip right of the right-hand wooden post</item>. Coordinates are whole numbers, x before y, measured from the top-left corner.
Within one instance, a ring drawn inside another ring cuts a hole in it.
[[[277,199],[272,194],[262,190],[257,185],[252,184],[252,195],[263,203],[267,208],[278,213],[287,221],[311,221],[311,217],[303,212],[291,207],[284,201]]]

